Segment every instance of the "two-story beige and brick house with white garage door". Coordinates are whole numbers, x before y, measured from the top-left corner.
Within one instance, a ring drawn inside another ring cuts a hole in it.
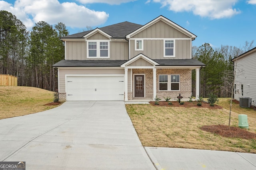
[[[196,35],[163,16],[146,25],[122,22],[61,37],[65,60],[58,68],[60,100],[134,100],[191,96]]]

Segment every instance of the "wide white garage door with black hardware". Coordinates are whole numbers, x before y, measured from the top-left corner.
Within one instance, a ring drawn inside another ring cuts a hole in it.
[[[67,76],[66,100],[124,100],[124,76]]]

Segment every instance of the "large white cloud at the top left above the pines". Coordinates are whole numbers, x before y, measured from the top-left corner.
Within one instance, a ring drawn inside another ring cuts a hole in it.
[[[0,1],[0,10],[15,15],[28,29],[38,21],[51,25],[63,22],[67,27],[85,28],[104,23],[108,19],[106,12],[94,11],[74,2],[60,3],[58,0],[16,0],[15,4]]]

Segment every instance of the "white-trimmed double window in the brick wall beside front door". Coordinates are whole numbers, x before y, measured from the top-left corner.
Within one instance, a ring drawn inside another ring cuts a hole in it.
[[[179,91],[180,75],[159,75],[159,90]]]

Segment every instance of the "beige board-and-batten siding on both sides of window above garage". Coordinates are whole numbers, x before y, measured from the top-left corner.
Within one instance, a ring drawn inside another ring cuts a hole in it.
[[[86,48],[86,41],[66,41],[66,60],[128,60],[129,58],[128,41],[110,41],[110,58],[107,59],[88,59]]]

